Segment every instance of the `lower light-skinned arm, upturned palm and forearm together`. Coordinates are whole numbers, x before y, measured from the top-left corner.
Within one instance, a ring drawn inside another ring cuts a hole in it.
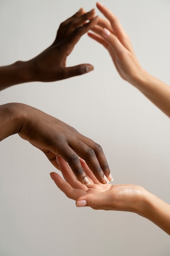
[[[64,179],[54,172],[50,173],[51,178],[68,198],[76,201],[77,207],[88,206],[95,210],[137,213],[170,235],[170,205],[160,198],[137,185],[101,184],[86,162],[80,159],[82,167],[91,181],[91,184],[85,186],[76,179],[62,157],[58,156],[57,162]]]

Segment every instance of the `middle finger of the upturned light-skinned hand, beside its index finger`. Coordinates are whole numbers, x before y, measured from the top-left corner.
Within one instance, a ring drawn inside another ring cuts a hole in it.
[[[68,184],[70,184],[74,189],[83,189],[85,191],[87,190],[86,185],[82,184],[77,180],[73,171],[62,157],[57,156],[57,163],[59,164],[59,168],[62,172],[64,180],[68,182]]]

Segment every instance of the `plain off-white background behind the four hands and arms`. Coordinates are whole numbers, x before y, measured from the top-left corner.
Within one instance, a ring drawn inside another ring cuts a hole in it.
[[[141,65],[170,84],[170,2],[105,0],[129,34]],[[86,0],[0,0],[0,65],[28,60],[54,40]],[[99,14],[99,11],[97,11]],[[84,76],[0,92],[70,124],[99,143],[116,184],[138,184],[170,203],[170,120],[123,81],[106,49],[83,36],[67,65]],[[135,213],[77,209],[57,189],[48,159],[18,135],[0,143],[0,256],[168,256],[169,236]]]

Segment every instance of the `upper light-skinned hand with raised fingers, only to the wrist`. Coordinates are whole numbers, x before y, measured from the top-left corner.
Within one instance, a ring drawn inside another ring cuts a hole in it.
[[[89,32],[88,36],[108,50],[119,75],[136,85],[144,70],[137,60],[128,35],[118,18],[109,9],[98,2],[97,8],[107,20],[99,17],[98,24],[91,29],[94,33]]]

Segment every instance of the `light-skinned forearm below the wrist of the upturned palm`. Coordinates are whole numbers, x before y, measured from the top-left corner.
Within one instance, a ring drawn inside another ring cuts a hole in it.
[[[146,191],[141,209],[139,208],[136,213],[152,221],[170,235],[170,205],[157,196]]]

